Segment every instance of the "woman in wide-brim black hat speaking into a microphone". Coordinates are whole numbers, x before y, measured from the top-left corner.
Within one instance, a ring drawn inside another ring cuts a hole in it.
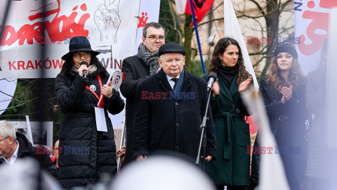
[[[60,126],[59,181],[64,188],[95,184],[102,173],[117,172],[116,146],[107,111],[121,112],[124,101],[112,87],[105,85],[109,73],[96,57],[86,37],[73,37],[70,52],[56,77],[55,91],[62,113]],[[81,64],[88,63],[88,66]],[[84,79],[84,70],[87,77]],[[107,132],[97,131],[95,106],[103,95]]]

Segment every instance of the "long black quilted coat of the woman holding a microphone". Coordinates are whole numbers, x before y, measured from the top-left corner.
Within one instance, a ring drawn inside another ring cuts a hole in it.
[[[114,90],[111,98],[104,97],[107,132],[98,132],[95,123],[94,107],[98,99],[86,89],[95,85],[95,93],[100,96],[98,73],[88,75],[88,82],[71,71],[71,76],[59,74],[56,77],[55,91],[60,108],[65,117],[60,126],[60,167],[58,179],[65,188],[94,184],[103,172],[114,175],[117,172],[116,145],[114,131],[107,111],[121,112],[124,101]],[[103,85],[107,77],[100,74]]]

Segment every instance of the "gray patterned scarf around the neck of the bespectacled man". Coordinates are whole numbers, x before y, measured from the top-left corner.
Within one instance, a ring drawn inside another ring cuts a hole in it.
[[[156,73],[157,70],[159,69],[158,51],[154,53],[150,53],[145,48],[144,44],[140,43],[138,47],[137,57],[141,58],[145,62],[145,65],[150,67],[150,75]]]

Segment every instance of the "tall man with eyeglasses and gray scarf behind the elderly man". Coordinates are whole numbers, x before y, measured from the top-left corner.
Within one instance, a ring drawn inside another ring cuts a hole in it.
[[[125,78],[121,83],[121,94],[126,97],[126,154],[124,165],[133,160],[132,127],[137,86],[146,77],[159,71],[158,50],[163,44],[165,44],[164,27],[159,23],[147,23],[143,27],[143,43],[140,43],[137,55],[125,58],[122,63],[121,72],[125,73]]]

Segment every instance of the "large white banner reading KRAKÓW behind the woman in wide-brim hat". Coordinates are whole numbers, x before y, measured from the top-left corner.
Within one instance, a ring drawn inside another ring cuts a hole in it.
[[[41,70],[48,78],[56,77],[74,36],[88,37],[108,72],[120,70],[122,60],[134,53],[139,4],[140,0],[48,0],[42,37],[41,1],[12,1],[0,44],[0,77],[37,78]],[[44,58],[39,57],[41,47],[47,50]]]

